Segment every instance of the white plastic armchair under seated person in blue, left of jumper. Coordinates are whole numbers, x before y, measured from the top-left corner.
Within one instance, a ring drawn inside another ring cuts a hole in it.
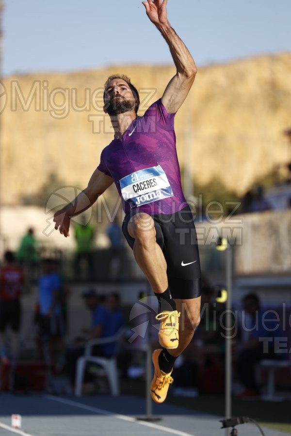
[[[91,339],[86,343],[84,355],[78,358],[77,360],[76,379],[75,379],[76,397],[81,397],[82,395],[82,384],[83,384],[87,363],[97,363],[99,366],[101,366],[103,369],[103,373],[105,373],[108,377],[111,394],[114,397],[119,395],[119,380],[118,380],[116,357],[119,352],[120,345],[123,341],[124,332],[125,329],[120,328],[118,332],[113,336],[109,336],[108,338]],[[105,343],[115,343],[113,356],[110,358],[103,357],[103,356],[102,357],[93,356],[92,355],[93,347],[95,345],[102,345]]]

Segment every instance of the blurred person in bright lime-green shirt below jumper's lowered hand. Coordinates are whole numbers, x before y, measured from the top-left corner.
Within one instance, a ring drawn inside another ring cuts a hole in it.
[[[93,280],[94,278],[94,259],[93,249],[95,241],[95,229],[89,223],[85,215],[81,217],[81,224],[75,225],[75,240],[77,243],[75,258],[75,274],[79,280],[82,267],[85,264],[85,278]]]

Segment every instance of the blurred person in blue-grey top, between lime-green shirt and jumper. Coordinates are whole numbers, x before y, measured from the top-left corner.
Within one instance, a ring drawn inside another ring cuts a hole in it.
[[[111,279],[116,280],[121,274],[122,253],[124,250],[124,236],[117,216],[108,226],[107,235],[110,239],[109,275]]]

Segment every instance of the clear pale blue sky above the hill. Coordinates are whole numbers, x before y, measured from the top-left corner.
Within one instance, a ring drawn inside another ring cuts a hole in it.
[[[140,0],[4,0],[3,75],[171,63]],[[291,0],[168,0],[197,65],[291,51]]]

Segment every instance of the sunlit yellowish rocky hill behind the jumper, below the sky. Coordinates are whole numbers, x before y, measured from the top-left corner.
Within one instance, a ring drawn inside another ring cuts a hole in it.
[[[129,75],[138,87],[141,115],[162,95],[175,69],[113,65],[3,80],[2,203],[22,203],[39,192],[50,174],[64,184],[86,186],[113,137],[102,112],[102,89],[116,72]],[[291,127],[290,78],[291,53],[199,68],[175,121],[178,156],[188,180],[199,185],[218,180],[242,195],[258,178],[291,161],[283,135]]]

